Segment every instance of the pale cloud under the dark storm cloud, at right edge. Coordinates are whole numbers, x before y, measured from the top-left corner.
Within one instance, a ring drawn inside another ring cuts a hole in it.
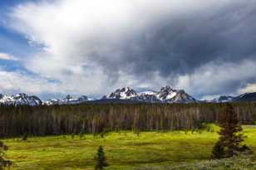
[[[255,73],[256,61],[209,63],[191,75],[180,76],[176,86],[192,95],[201,95],[201,99],[209,99],[210,95],[240,95],[256,90],[254,84],[242,88],[245,82],[255,80]]]

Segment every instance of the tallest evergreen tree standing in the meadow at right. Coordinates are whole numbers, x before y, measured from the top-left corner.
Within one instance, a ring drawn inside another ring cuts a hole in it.
[[[241,143],[244,141],[242,127],[238,115],[235,114],[232,104],[227,104],[220,117],[219,141],[213,149],[213,158],[229,158],[241,152]]]

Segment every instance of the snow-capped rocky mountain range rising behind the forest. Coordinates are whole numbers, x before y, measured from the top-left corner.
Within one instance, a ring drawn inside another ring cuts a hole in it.
[[[91,100],[86,95],[78,98],[72,98],[67,95],[65,99],[40,100],[37,96],[29,96],[26,94],[2,95],[0,94],[0,104],[5,105],[52,105],[52,104],[81,104],[81,103],[224,103],[224,102],[240,102],[240,101],[256,101],[256,92],[245,93],[239,96],[220,96],[214,100],[195,100],[185,90],[175,90],[170,86],[162,87],[159,91],[146,90],[137,92],[130,87],[117,89],[109,95],[104,95],[101,99]]]

